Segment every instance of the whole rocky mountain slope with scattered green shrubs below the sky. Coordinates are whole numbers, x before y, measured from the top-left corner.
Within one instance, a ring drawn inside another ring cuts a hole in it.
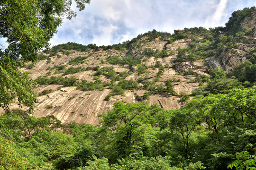
[[[234,12],[225,27],[174,33],[153,30],[100,47],[68,42],[40,52],[37,63],[20,67],[39,84],[35,116],[97,125],[97,116],[117,101],[179,109],[194,95],[228,93],[229,85],[255,83],[255,77],[247,77],[255,76],[256,68],[255,8]],[[218,84],[221,74],[225,87]]]

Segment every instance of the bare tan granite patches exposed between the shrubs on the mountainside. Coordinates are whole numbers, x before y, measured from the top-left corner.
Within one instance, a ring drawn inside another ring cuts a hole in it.
[[[251,17],[246,18],[242,22],[243,27],[252,27],[256,26],[256,13]],[[182,31],[176,31],[177,34]],[[149,96],[148,103],[158,104],[164,110],[170,109],[179,109],[185,103],[180,102],[180,94],[191,94],[192,91],[197,90],[199,83],[195,81],[195,75],[197,76],[210,76],[210,68],[222,68],[223,70],[230,71],[236,67],[241,62],[246,62],[252,56],[252,52],[256,49],[256,30],[252,33],[251,36],[245,36],[242,38],[241,43],[236,44],[234,48],[229,51],[223,51],[219,56],[211,56],[206,59],[201,59],[197,61],[185,61],[181,63],[174,63],[173,60],[177,59],[178,48],[187,48],[192,42],[190,38],[179,39],[174,41],[171,44],[168,44],[168,38],[161,39],[160,37],[155,37],[153,41],[147,41],[143,37],[132,45],[131,49],[123,50],[99,50],[99,51],[89,51],[89,52],[80,52],[80,51],[69,51],[69,55],[66,55],[63,52],[58,52],[55,56],[50,57],[47,60],[40,60],[35,64],[35,67],[32,69],[21,68],[23,71],[30,72],[33,79],[37,79],[39,76],[62,76],[62,73],[56,72],[56,69],[52,70],[55,66],[64,65],[65,69],[68,68],[87,68],[87,67],[113,67],[115,72],[128,72],[130,69],[133,70],[133,73],[126,77],[126,80],[133,79],[138,80],[140,77],[147,77],[148,81],[154,81],[155,76],[159,68],[155,68],[155,64],[161,63],[165,69],[163,70],[162,76],[159,78],[159,81],[155,84],[165,84],[166,80],[172,80],[172,85],[174,86],[174,91],[177,95],[169,95],[167,93],[155,94]],[[106,61],[108,56],[119,56],[124,58],[127,53],[133,58],[140,57],[143,55],[145,49],[151,49],[153,51],[161,51],[163,49],[167,50],[170,53],[170,56],[165,58],[154,58],[148,57],[143,59],[142,65],[147,67],[146,73],[138,74],[138,67],[133,66],[129,68],[128,65],[112,65]],[[48,54],[45,54],[48,55]],[[69,64],[70,60],[77,58],[78,56],[87,57],[83,63],[71,65]],[[105,62],[102,62],[105,61]],[[192,70],[194,75],[180,75],[180,71],[189,71]],[[75,74],[68,74],[63,77],[74,76],[78,81],[86,80],[88,82],[96,81],[94,74],[96,71],[86,70],[81,71]],[[97,78],[97,77],[96,77]],[[107,81],[108,79],[105,76],[98,77],[102,82]],[[117,82],[118,83],[118,82]],[[47,115],[54,115],[57,119],[60,119],[63,123],[66,122],[79,122],[79,123],[90,123],[92,125],[99,124],[98,115],[105,113],[113,107],[114,102],[123,101],[123,102],[137,102],[136,96],[143,96],[146,90],[142,89],[142,84],[138,83],[138,89],[136,90],[127,90],[123,96],[114,95],[111,96],[108,101],[104,100],[105,97],[110,94],[111,90],[105,88],[102,91],[93,90],[93,91],[81,91],[76,89],[76,87],[64,87],[62,85],[41,85],[34,89],[35,93],[41,93],[44,90],[50,90],[51,93],[38,96],[38,102],[35,105],[35,116],[42,117]],[[10,109],[18,108],[18,104],[12,103]],[[26,109],[26,107],[22,107]],[[3,110],[0,110],[0,112]]]

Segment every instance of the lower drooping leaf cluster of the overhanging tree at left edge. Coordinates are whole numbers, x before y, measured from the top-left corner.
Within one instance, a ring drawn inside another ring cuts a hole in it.
[[[18,96],[19,105],[24,104],[33,112],[37,102],[33,92],[35,83],[28,73],[18,70],[9,59],[0,59],[0,107],[9,110],[9,103]]]

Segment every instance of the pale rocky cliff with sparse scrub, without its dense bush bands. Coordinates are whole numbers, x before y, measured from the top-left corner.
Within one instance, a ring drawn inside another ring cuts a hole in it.
[[[110,110],[114,102],[137,102],[139,97],[142,98],[145,92],[149,91],[143,83],[138,81],[141,78],[153,82],[155,85],[165,85],[167,80],[171,80],[175,93],[170,94],[165,91],[151,93],[147,98],[147,102],[149,104],[159,104],[165,110],[178,109],[185,104],[181,98],[198,89],[199,82],[196,77],[210,76],[208,72],[210,68],[220,67],[223,70],[231,71],[239,63],[245,62],[252,57],[252,51],[256,49],[256,30],[252,28],[256,26],[256,13],[246,17],[241,26],[250,28],[249,36],[243,35],[238,43],[229,47],[229,50],[226,50],[227,46],[223,46],[220,51],[208,47],[204,48],[204,52],[210,54],[207,57],[205,57],[205,53],[199,54],[197,51],[203,45],[213,44],[213,42],[210,43],[210,40],[214,39],[213,36],[208,32],[204,33],[203,36],[200,34],[193,36],[191,35],[192,31],[184,33],[182,30],[176,31],[177,36],[186,35],[182,38],[175,38],[177,37],[176,35],[168,37],[146,34],[121,49],[59,50],[54,55],[51,55],[51,51],[42,52],[41,55],[46,56],[47,59],[39,60],[30,68],[21,68],[21,70],[31,73],[33,79],[44,76],[49,78],[52,76],[67,78],[74,76],[77,82],[82,82],[82,80],[87,82],[101,80],[101,82],[110,83],[112,81],[111,78],[104,74],[97,75],[97,70],[95,69],[82,69],[76,73],[63,74],[69,68],[96,68],[99,66],[98,69],[113,67],[114,72],[119,75],[128,74],[124,80],[132,79],[138,83],[137,88],[126,90],[122,95],[112,94],[108,100],[106,100],[106,96],[111,93],[110,85],[101,90],[86,91],[82,91],[76,86],[64,86],[58,85],[58,83],[40,85],[34,90],[35,93],[38,93],[39,100],[35,105],[34,114],[36,117],[55,115],[63,123],[75,121],[97,125],[99,123],[97,116]],[[194,45],[195,43],[196,46]],[[181,54],[183,49],[186,51]],[[203,57],[200,59],[184,59],[192,56],[190,54],[191,49],[195,51],[193,55],[202,55]],[[133,66],[129,64],[113,64],[108,59],[109,56],[118,56],[119,59],[125,59],[128,55],[133,59],[141,59],[141,63]],[[70,61],[77,57],[83,58],[82,62],[74,65],[70,64]],[[159,65],[161,66],[159,67]],[[64,69],[58,70],[59,66],[63,66]],[[146,71],[139,72],[141,67],[144,67]],[[188,72],[190,74],[187,74]],[[115,81],[115,84],[118,84],[119,81]],[[192,96],[189,96],[186,100],[190,100],[190,98]],[[10,108],[18,108],[17,103],[12,103]]]

